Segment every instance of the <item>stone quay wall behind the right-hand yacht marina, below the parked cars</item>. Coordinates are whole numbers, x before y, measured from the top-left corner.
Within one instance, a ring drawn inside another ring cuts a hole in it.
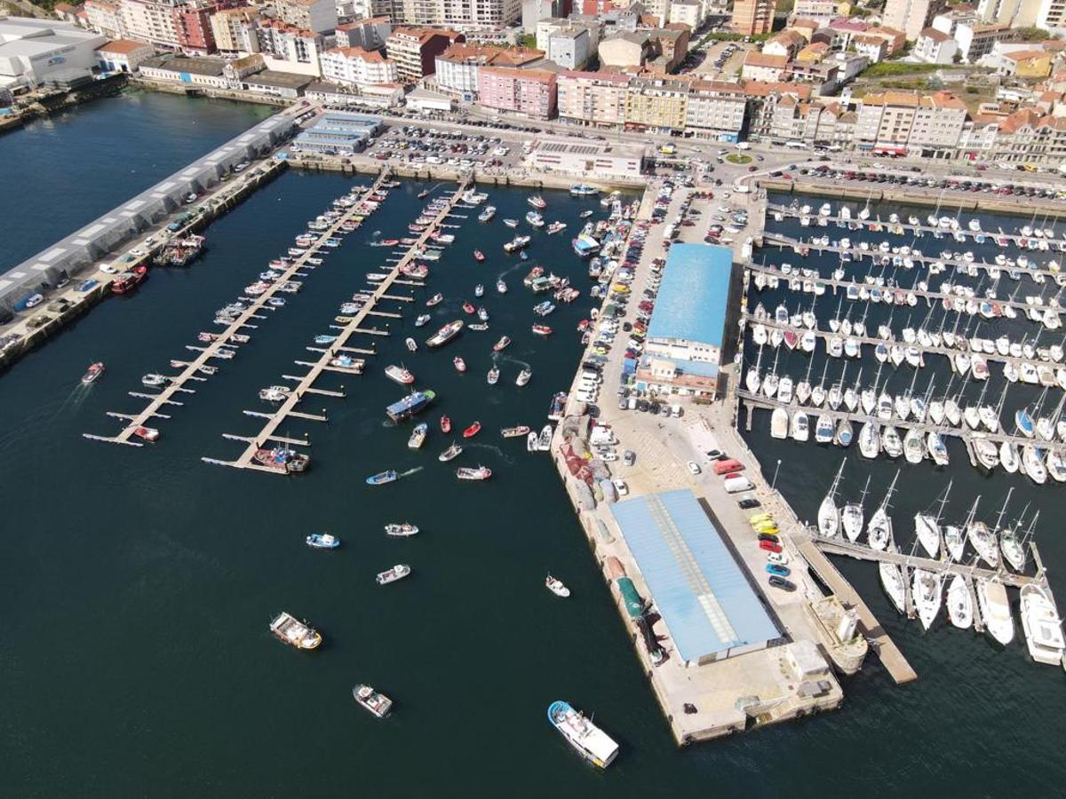
[[[1062,201],[1049,197],[1024,197],[1015,199],[982,192],[941,194],[922,193],[901,189],[860,189],[818,183],[809,180],[759,179],[758,185],[766,192],[781,194],[806,194],[814,197],[858,200],[861,202],[897,202],[907,206],[940,208],[941,211],[986,211],[988,213],[1032,216],[1034,212],[1062,213]]]

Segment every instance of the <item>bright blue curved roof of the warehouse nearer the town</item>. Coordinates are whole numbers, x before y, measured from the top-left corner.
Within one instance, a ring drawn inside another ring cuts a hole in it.
[[[732,250],[717,244],[674,244],[666,257],[649,339],[722,346]]]

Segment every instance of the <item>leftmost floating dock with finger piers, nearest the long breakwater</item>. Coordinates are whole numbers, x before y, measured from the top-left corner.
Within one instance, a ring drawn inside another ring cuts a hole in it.
[[[287,281],[291,280],[296,275],[296,273],[300,272],[300,270],[307,268],[309,259],[314,259],[319,255],[321,255],[319,252],[319,249],[320,247],[324,246],[324,243],[327,239],[335,238],[337,235],[337,232],[341,229],[341,227],[343,227],[345,223],[353,219],[353,217],[361,216],[365,214],[365,212],[361,210],[362,203],[366,200],[369,200],[370,197],[381,189],[382,184],[386,181],[388,175],[389,175],[389,169],[388,167],[385,167],[382,170],[382,173],[377,176],[377,180],[374,181],[374,184],[364,193],[360,200],[357,202],[353,202],[351,206],[349,206],[343,211],[343,213],[341,213],[341,215],[337,218],[337,221],[333,225],[330,225],[326,230],[319,231],[318,238],[310,246],[306,248],[306,251],[293,258],[289,266],[285,270],[284,273],[281,273],[281,275],[273,283],[271,283],[270,288],[258,297],[252,299],[249,301],[248,307],[244,311],[242,311],[241,314],[232,323],[230,323],[225,330],[219,333],[217,339],[210,342],[207,346],[204,347],[195,347],[190,345],[188,348],[194,352],[198,352],[198,355],[194,360],[184,362],[181,372],[172,377],[169,382],[165,387],[163,387],[163,389],[158,394],[143,394],[143,393],[134,394],[135,396],[149,398],[150,402],[140,413],[131,414],[129,423],[125,427],[123,427],[122,430],[119,430],[115,436],[110,436],[110,437],[83,434],[84,437],[87,439],[92,439],[94,441],[103,441],[116,444],[136,443],[130,441],[130,439],[139,427],[145,426],[149,421],[151,421],[157,417],[166,418],[162,417],[162,414],[159,413],[159,410],[165,405],[180,405],[181,403],[175,402],[172,397],[179,392],[192,393],[194,391],[193,389],[184,388],[184,384],[191,380],[201,379],[199,377],[201,366],[207,365],[212,358],[219,357],[219,353],[221,350],[224,349],[233,350],[240,346],[240,344],[235,342],[233,337],[235,336],[241,337],[242,328],[255,327],[254,325],[248,324],[249,320],[266,319],[265,316],[259,314],[259,311],[262,311],[268,308],[272,309],[272,307],[268,305],[268,300],[271,299],[276,293],[278,293],[281,290],[281,287]],[[329,249],[332,248],[325,248],[325,252],[328,252]],[[244,343],[244,339],[242,339],[241,343]]]

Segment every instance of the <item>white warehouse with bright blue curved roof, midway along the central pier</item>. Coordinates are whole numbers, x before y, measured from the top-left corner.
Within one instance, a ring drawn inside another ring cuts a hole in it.
[[[738,273],[729,247],[671,246],[639,379],[680,393],[715,392],[718,366],[737,345]]]

